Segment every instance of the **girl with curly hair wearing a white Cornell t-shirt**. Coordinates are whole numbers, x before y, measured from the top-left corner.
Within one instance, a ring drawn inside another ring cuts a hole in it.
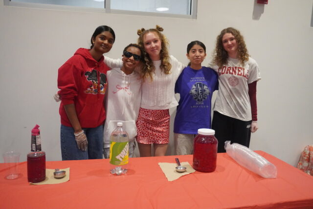
[[[261,76],[237,29],[228,27],[218,35],[209,67],[219,75],[212,120],[219,141],[218,152],[225,152],[226,140],[249,147],[251,133],[258,129],[256,83]]]

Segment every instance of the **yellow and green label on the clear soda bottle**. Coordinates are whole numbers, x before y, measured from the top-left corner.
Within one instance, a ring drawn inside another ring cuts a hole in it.
[[[128,163],[129,145],[126,142],[110,142],[110,163],[113,165],[125,165]]]

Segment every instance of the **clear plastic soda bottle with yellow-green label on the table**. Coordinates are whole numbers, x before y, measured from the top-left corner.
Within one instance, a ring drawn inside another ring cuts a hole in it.
[[[125,174],[128,169],[128,134],[122,126],[122,122],[117,122],[117,128],[110,137],[110,168],[111,173],[116,175]]]

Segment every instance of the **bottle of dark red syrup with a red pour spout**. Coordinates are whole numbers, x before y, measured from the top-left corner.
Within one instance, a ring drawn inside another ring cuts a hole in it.
[[[39,125],[31,130],[31,152],[27,154],[27,179],[36,183],[45,180],[45,152],[41,150]]]

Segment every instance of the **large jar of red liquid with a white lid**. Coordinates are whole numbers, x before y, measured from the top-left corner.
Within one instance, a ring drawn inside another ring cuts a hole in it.
[[[201,172],[213,172],[216,169],[217,144],[212,129],[198,129],[194,139],[193,168]]]

